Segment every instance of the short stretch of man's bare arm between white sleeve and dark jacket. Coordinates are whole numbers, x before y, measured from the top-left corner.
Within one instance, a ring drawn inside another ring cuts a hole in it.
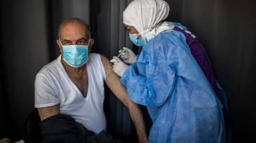
[[[38,108],[37,110],[38,110],[40,119],[42,121],[43,119],[46,119],[47,117],[51,117],[55,114],[59,114],[60,113],[60,104],[54,105],[52,107]]]

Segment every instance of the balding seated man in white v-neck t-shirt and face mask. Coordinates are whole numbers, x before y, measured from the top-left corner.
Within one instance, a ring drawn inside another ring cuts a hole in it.
[[[41,121],[66,114],[95,134],[106,131],[105,81],[128,107],[139,142],[148,142],[140,108],[129,99],[112,64],[105,56],[89,54],[93,39],[88,24],[81,19],[68,19],[60,24],[58,32],[61,55],[44,66],[35,79],[35,107]]]

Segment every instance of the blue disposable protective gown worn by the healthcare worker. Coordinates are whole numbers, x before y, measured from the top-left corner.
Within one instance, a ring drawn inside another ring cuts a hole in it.
[[[148,41],[120,80],[133,102],[147,106],[150,142],[225,142],[222,105],[180,32]]]

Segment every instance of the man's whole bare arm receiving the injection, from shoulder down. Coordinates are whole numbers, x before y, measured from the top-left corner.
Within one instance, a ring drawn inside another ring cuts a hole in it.
[[[114,73],[112,64],[105,56],[101,56],[102,64],[106,73],[106,85],[116,97],[129,109],[129,114],[134,122],[139,142],[148,142],[145,122],[140,107],[129,99],[127,89],[120,82],[120,78]]]

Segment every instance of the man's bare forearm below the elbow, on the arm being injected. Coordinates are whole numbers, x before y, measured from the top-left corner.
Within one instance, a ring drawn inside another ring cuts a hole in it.
[[[132,118],[132,122],[134,123],[135,129],[137,131],[139,142],[148,142],[145,122],[140,107],[134,102],[131,102],[128,105],[128,109]]]

